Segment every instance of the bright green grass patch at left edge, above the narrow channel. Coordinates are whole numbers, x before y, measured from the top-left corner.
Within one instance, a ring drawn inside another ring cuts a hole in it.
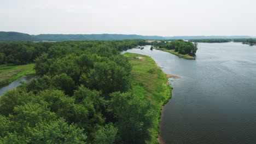
[[[36,74],[34,64],[0,65],[0,86],[6,85],[25,75]]]

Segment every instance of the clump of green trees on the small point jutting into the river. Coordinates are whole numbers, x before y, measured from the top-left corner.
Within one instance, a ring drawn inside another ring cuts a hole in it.
[[[170,42],[166,42],[166,43],[155,43],[153,42],[153,45],[155,47],[159,47],[159,48],[165,48],[167,50],[174,50],[175,52],[178,52],[179,54],[182,55],[195,55],[196,51],[197,51],[197,43],[193,44],[190,41],[184,41],[182,39],[179,40],[173,40]]]

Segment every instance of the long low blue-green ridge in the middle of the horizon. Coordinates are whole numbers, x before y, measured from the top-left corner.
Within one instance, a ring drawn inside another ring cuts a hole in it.
[[[165,39],[159,36],[144,36],[136,34],[39,34],[34,35],[40,40],[124,40],[124,39]]]

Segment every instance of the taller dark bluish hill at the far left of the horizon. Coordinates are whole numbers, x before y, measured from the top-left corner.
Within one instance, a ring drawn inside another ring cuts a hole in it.
[[[0,41],[39,41],[37,38],[26,33],[0,32]]]

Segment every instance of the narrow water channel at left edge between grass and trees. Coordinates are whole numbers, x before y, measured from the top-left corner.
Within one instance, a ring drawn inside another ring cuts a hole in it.
[[[0,87],[0,96],[3,95],[7,90],[16,88],[19,85],[21,85],[20,81],[29,82],[29,81],[33,80],[34,78],[35,78],[34,75],[27,75],[27,76],[22,77],[21,79],[18,79],[18,80],[15,80],[15,81],[9,83],[9,85]]]

